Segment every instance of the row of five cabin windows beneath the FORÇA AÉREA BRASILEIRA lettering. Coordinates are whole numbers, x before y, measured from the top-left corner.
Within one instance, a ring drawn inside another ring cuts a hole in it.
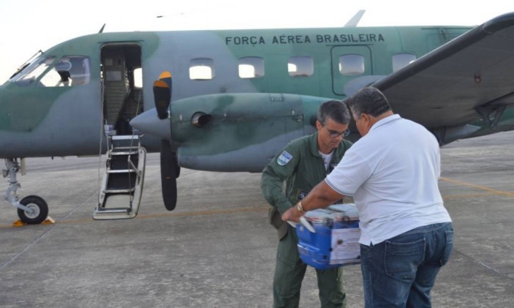
[[[398,53],[392,57],[393,71],[397,71],[414,61],[411,53]],[[343,76],[364,74],[365,58],[360,54],[339,56],[339,73]],[[314,60],[310,56],[293,56],[287,61],[287,72],[291,77],[311,76],[314,74]],[[264,77],[264,59],[261,57],[242,57],[238,60],[238,73],[241,78]],[[211,58],[194,58],[190,60],[189,78],[192,80],[209,80],[215,77],[214,60]]]

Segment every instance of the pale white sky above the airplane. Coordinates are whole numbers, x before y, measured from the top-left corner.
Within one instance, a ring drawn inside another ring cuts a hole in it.
[[[505,0],[0,0],[0,85],[39,50],[104,32],[342,27],[475,26],[514,11]],[[157,16],[162,16],[157,18]]]

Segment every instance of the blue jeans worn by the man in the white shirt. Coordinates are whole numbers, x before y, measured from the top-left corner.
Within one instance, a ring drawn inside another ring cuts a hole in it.
[[[431,307],[430,290],[453,249],[451,222],[360,245],[366,308]]]

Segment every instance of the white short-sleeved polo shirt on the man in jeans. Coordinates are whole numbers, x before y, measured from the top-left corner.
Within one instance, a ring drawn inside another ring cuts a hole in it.
[[[394,114],[376,122],[325,181],[354,196],[364,245],[423,225],[450,222],[437,180],[439,145],[423,126]]]

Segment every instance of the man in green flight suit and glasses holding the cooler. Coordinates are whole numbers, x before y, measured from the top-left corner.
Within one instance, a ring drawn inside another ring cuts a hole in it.
[[[343,139],[350,132],[349,123],[350,113],[343,102],[323,102],[317,115],[318,131],[289,142],[263,170],[261,189],[272,206],[270,223],[278,230],[280,239],[273,278],[273,307],[299,306],[307,269],[298,253],[296,230],[282,221],[281,214],[321,182],[352,146],[352,142]],[[316,270],[316,274],[321,307],[345,307],[342,267]]]

